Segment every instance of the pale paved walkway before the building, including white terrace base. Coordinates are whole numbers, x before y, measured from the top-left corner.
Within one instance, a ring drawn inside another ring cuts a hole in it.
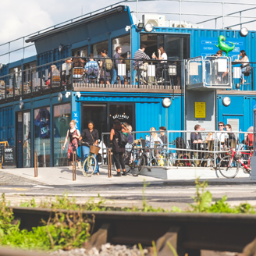
[[[147,171],[150,173],[150,170]],[[212,169],[171,169],[169,180],[157,179],[152,176],[137,176],[134,177],[131,174],[128,176],[108,178],[108,171],[105,168],[100,168],[100,176],[93,175],[91,177],[84,177],[80,169],[76,170],[76,181],[73,181],[73,171],[67,167],[51,167],[51,168],[38,168],[38,177],[34,177],[34,168],[22,168],[22,169],[2,169],[2,179],[0,179],[0,185],[7,184],[4,173],[6,176],[20,177],[20,180],[27,180],[28,182],[37,185],[57,185],[57,186],[76,186],[76,185],[111,185],[111,184],[141,184],[143,181],[151,183],[162,183],[163,185],[187,185],[193,186],[194,180],[200,177],[201,180],[208,180],[209,184],[222,185],[222,184],[254,184],[256,180],[251,180],[248,174],[245,174],[242,169],[235,179],[226,179],[218,172]],[[113,172],[115,174],[116,172]],[[1,178],[1,177],[0,177]],[[12,179],[13,180],[13,179]],[[11,183],[9,183],[10,185]],[[15,183],[12,183],[15,184]],[[16,183],[18,184],[18,183]]]

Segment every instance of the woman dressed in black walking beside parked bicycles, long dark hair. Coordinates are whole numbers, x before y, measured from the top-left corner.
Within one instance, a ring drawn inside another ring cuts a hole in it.
[[[129,133],[129,130],[119,122],[115,120],[113,123],[113,128],[110,131],[110,140],[112,141],[114,162],[116,164],[117,174],[114,176],[121,176],[120,167],[123,169],[123,175],[126,176],[126,167],[123,162],[123,153],[125,151],[125,146],[119,144],[120,133]]]

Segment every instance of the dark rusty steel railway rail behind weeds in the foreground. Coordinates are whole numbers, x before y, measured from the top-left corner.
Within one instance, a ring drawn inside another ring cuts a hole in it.
[[[15,219],[20,219],[21,229],[41,225],[41,219],[48,220],[52,212],[52,209],[45,208],[14,207],[12,210]],[[241,252],[256,237],[256,215],[159,212],[83,214],[95,218],[94,240],[97,240],[98,233],[102,234],[102,230],[105,231],[103,242],[112,244],[141,243],[151,246],[151,241],[164,236],[165,240],[172,240],[180,256],[185,253],[200,255],[201,250]]]

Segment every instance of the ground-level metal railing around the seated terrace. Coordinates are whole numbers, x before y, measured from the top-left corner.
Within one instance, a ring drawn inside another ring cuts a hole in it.
[[[165,135],[162,137],[162,135]],[[236,152],[249,152],[247,135],[251,132],[238,131],[141,131],[131,132],[133,142],[126,144],[126,151],[130,151],[132,144],[142,148],[147,155],[148,166],[169,168],[183,167],[211,167],[217,168],[219,161],[229,155],[230,148]],[[110,133],[101,134],[102,165],[108,165],[107,151],[112,147],[109,140]],[[154,135],[157,134],[157,135]],[[199,134],[199,135],[198,135]],[[136,148],[133,154],[137,154]],[[244,159],[246,162],[247,159]]]

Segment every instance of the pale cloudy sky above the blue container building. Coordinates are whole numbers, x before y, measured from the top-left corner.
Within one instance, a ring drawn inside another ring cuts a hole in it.
[[[204,0],[209,2],[209,0]],[[212,0],[211,0],[212,1]],[[82,13],[88,13],[106,5],[111,5],[116,3],[117,0],[1,0],[1,26],[0,26],[0,44],[8,41],[12,41],[18,37],[23,37],[28,34],[33,34],[38,30],[43,30],[44,28],[51,27],[57,23],[62,23],[66,20],[73,19],[80,16]],[[226,2],[233,2],[226,0]],[[251,2],[255,5],[244,5],[244,3]],[[242,5],[226,5],[225,13],[236,12],[242,9],[248,9],[251,7],[256,7],[255,0],[236,0],[236,3],[241,3]],[[136,3],[127,2],[124,5],[129,5],[132,10],[136,10]],[[149,2],[139,2],[139,8],[142,11],[150,12],[179,12],[180,3],[176,1],[149,1]],[[222,4],[212,4],[212,3],[192,3],[192,2],[182,2],[182,12],[186,13],[196,13],[196,14],[213,14],[217,13],[219,16],[222,15]],[[177,15],[166,14],[166,20],[180,20]],[[244,12],[244,16],[255,17],[251,20],[256,20],[256,9],[249,12]],[[141,15],[140,15],[141,17]],[[139,19],[141,19],[139,17]],[[212,17],[207,16],[182,16],[182,20],[191,21],[194,23],[200,22],[202,20],[208,20]],[[248,19],[243,19],[247,21]],[[250,20],[250,19],[249,19]],[[226,18],[225,26],[228,27],[231,24],[239,23],[239,18]],[[215,22],[204,23],[206,28],[215,28]],[[219,19],[218,28],[222,27],[222,19]],[[256,22],[244,25],[249,30],[256,30]],[[239,29],[239,27],[233,27]],[[29,45],[29,44],[25,44]],[[16,41],[11,44],[11,50],[20,48],[23,46],[23,41]],[[0,55],[2,52],[8,50],[8,45],[0,46]],[[27,48],[27,52],[30,52],[30,48]],[[1,58],[1,57],[0,57]],[[21,58],[21,56],[20,56]],[[1,62],[1,59],[0,59]]]

